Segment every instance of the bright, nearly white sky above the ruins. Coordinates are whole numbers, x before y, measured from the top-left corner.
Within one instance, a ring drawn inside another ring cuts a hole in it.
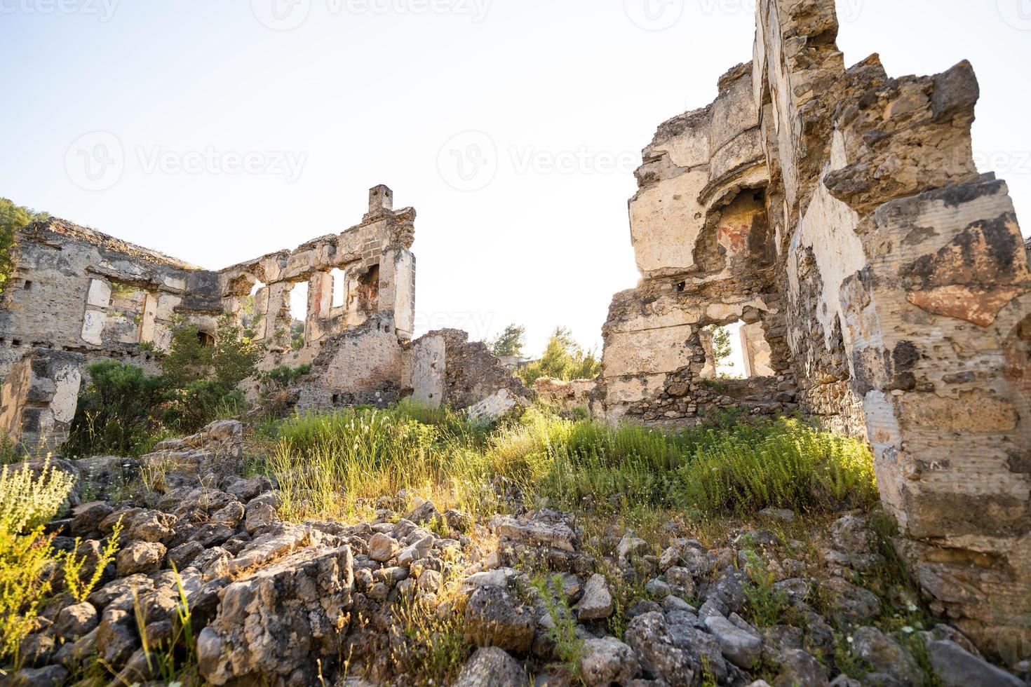
[[[839,0],[849,64],[969,59],[1031,231],[1031,0]],[[754,0],[0,0],[0,196],[219,269],[419,211],[420,329],[600,348],[656,126],[750,60]],[[472,132],[472,133],[470,133]],[[455,156],[458,157],[455,157]]]

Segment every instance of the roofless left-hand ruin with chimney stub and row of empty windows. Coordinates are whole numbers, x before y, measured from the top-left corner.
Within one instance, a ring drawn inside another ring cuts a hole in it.
[[[196,323],[209,343],[227,314],[267,344],[260,370],[312,364],[298,388],[301,408],[396,401],[414,319],[414,219],[376,186],[362,221],[343,233],[218,272],[61,219],[30,225],[15,237],[13,275],[0,295],[0,424],[51,450],[67,435],[88,363],[157,372],[154,355],[176,321]],[[344,282],[339,303],[335,279]],[[300,347],[295,288],[307,289]]]

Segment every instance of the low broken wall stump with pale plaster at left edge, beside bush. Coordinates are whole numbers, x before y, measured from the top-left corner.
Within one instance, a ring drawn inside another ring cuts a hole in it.
[[[80,353],[35,348],[15,363],[0,391],[0,432],[34,457],[68,439],[82,381]]]

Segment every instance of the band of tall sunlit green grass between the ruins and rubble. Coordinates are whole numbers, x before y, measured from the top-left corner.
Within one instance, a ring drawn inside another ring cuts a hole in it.
[[[513,494],[528,506],[702,515],[862,507],[876,499],[868,449],[797,419],[670,434],[534,407],[486,427],[402,404],[295,416],[265,432],[275,441],[267,469],[284,491],[284,515],[295,519],[360,517],[401,489],[485,516]]]

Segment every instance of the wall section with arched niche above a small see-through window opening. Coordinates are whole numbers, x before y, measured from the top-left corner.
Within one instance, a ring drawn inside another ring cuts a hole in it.
[[[603,328],[609,420],[684,426],[721,409],[796,410],[783,284],[766,210],[769,173],[752,69],[720,79],[711,105],[662,124],[637,170],[630,228],[643,277]],[[714,381],[707,328],[742,321],[768,350],[762,372]]]

